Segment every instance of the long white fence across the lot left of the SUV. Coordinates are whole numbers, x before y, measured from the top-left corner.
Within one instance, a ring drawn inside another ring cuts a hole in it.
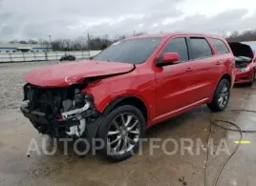
[[[75,55],[76,59],[88,59],[100,51],[85,52],[10,52],[0,53],[0,63],[26,61],[58,61],[64,54]]]

